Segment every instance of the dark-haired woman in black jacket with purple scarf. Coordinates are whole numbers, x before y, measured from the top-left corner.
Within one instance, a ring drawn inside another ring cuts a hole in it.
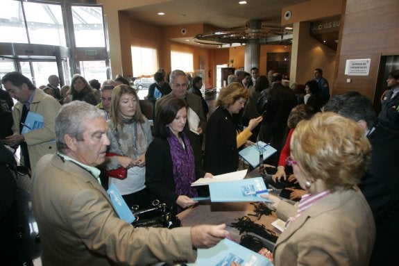
[[[194,205],[197,191],[194,153],[187,138],[187,103],[177,97],[162,101],[154,122],[154,140],[146,152],[146,187],[160,201],[182,209]]]

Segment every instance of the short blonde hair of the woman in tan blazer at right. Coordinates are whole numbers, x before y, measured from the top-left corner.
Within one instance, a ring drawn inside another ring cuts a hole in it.
[[[371,144],[362,128],[335,113],[318,113],[299,122],[290,146],[303,175],[321,179],[331,192],[357,185],[371,156]]]

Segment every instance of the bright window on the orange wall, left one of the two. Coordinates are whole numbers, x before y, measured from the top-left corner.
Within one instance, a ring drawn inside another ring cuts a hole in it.
[[[133,76],[153,76],[158,70],[157,49],[132,47]]]

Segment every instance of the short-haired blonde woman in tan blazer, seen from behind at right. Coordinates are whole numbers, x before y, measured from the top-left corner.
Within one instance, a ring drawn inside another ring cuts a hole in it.
[[[285,231],[275,243],[275,265],[368,265],[375,240],[373,214],[357,187],[370,160],[371,145],[351,119],[318,113],[296,126],[292,165],[307,190],[298,209],[265,195]]]

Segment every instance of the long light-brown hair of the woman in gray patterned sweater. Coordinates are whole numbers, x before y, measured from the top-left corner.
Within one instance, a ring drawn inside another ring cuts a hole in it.
[[[119,111],[119,100],[121,99],[121,96],[125,93],[132,94],[136,98],[137,106],[135,119],[137,120],[137,122],[139,124],[142,124],[145,121],[142,110],[140,109],[140,101],[139,97],[137,96],[136,90],[131,88],[129,85],[120,84],[112,90],[111,97],[110,119],[114,124],[114,128],[117,128],[118,124],[121,126],[121,128],[124,128],[124,122],[122,121],[121,112]]]

